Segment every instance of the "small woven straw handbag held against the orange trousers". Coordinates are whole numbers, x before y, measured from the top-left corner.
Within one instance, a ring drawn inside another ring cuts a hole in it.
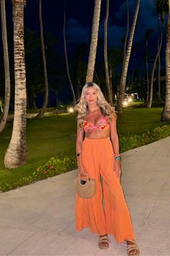
[[[97,184],[95,179],[91,179],[86,174],[86,181],[82,181],[81,175],[74,179],[76,193],[82,198],[91,198],[95,195]]]

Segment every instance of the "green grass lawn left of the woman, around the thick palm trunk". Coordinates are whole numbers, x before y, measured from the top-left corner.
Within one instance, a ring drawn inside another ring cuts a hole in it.
[[[1,182],[15,181],[29,176],[38,166],[53,156],[75,154],[76,116],[58,115],[44,119],[27,119],[27,164],[19,168],[4,168],[4,154],[12,133],[8,123],[0,137],[0,186]]]

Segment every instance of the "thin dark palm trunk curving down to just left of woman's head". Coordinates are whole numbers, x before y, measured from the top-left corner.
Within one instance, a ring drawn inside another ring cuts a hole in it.
[[[64,12],[64,20],[63,20],[63,41],[64,41],[64,53],[65,53],[65,59],[66,59],[66,70],[67,70],[67,76],[68,80],[71,86],[71,93],[73,96],[73,104],[76,105],[76,96],[73,90],[73,83],[71,81],[71,75],[69,71],[69,66],[68,66],[68,56],[67,56],[67,47],[66,47],[66,12]]]

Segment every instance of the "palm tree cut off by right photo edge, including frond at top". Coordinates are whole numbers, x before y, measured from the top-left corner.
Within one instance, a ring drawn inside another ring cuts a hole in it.
[[[166,95],[164,108],[161,113],[161,121],[170,120],[170,0],[157,0],[157,11],[168,13],[168,22],[166,30]]]

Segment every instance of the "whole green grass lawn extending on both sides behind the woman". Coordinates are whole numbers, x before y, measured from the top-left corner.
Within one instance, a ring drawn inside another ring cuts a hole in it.
[[[160,127],[170,122],[160,122],[162,108],[125,108],[118,116],[119,135],[141,134],[146,129]],[[76,115],[58,115],[44,119],[27,120],[27,164],[15,168],[4,168],[4,154],[12,134],[12,122],[0,135],[0,186],[1,182],[16,181],[29,176],[32,171],[46,163],[51,157],[75,155]]]

